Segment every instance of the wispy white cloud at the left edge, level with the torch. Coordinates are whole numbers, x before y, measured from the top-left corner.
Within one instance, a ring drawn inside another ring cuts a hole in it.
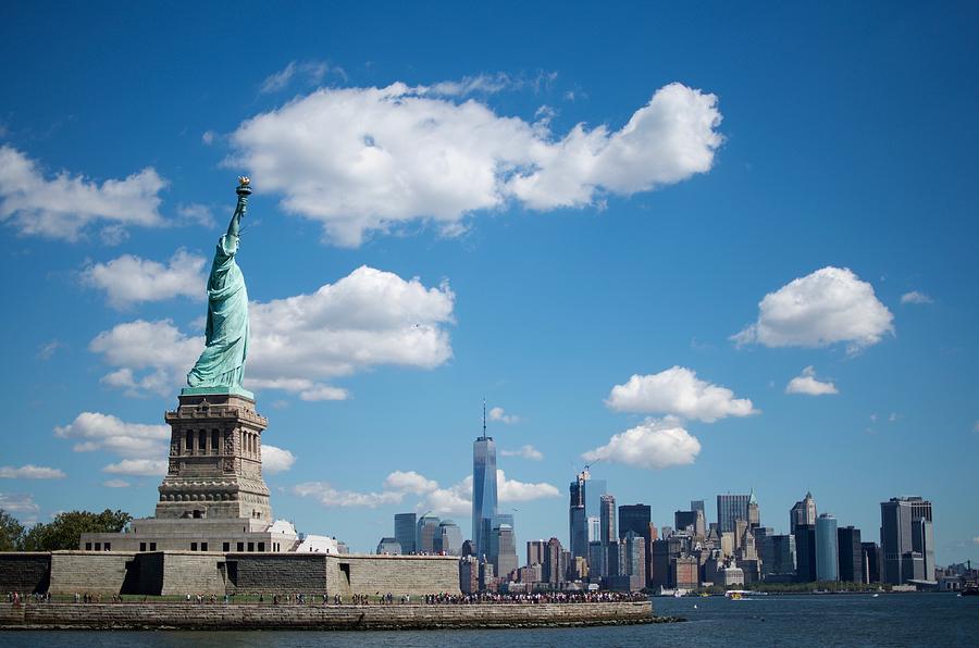
[[[37,162],[15,148],[0,147],[0,222],[24,235],[76,240],[89,224],[102,224],[112,245],[124,227],[158,227],[160,191],[168,185],[152,167],[101,185],[66,171],[46,178]]]

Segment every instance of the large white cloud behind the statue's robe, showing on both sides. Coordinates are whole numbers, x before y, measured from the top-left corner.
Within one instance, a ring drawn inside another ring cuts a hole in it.
[[[361,266],[313,294],[251,302],[246,386],[303,400],[343,400],[322,383],[379,365],[434,369],[451,358],[455,295]],[[102,383],[127,395],[173,392],[203,348],[172,321],[137,320],[100,333],[89,349],[114,367]]]

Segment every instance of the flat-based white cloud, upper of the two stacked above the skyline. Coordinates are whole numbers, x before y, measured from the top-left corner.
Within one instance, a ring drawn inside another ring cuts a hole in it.
[[[605,403],[619,412],[676,414],[707,423],[758,413],[749,399],[734,398],[727,387],[702,381],[685,366],[633,375],[624,385],[612,387]]]

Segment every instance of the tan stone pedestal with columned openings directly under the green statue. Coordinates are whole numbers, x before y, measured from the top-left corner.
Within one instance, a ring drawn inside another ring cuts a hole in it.
[[[166,412],[170,465],[158,520],[251,519],[272,522],[262,478],[262,431],[269,421],[239,394],[182,394]]]

